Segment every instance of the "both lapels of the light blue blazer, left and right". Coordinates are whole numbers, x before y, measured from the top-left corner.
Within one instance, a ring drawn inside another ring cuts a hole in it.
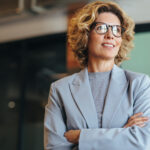
[[[124,91],[126,91],[127,85],[124,71],[114,65],[105,99],[102,127],[109,128],[111,126],[112,119],[120,105],[121,98],[125,93]],[[81,114],[87,122],[87,126],[89,128],[98,128],[98,118],[90,88],[87,68],[77,73],[70,84],[70,90]]]

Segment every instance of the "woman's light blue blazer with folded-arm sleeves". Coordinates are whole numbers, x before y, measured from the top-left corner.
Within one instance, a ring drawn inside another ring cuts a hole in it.
[[[100,89],[99,89],[100,90]],[[150,122],[123,128],[129,117],[143,112],[150,117],[150,79],[114,65],[104,105],[102,128],[92,97],[88,70],[52,83],[45,108],[45,150],[150,150]],[[64,133],[80,129],[79,144]],[[74,147],[74,148],[73,148]]]

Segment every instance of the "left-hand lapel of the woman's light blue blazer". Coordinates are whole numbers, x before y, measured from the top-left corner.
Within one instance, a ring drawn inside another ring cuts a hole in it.
[[[70,90],[89,128],[98,128],[96,108],[89,84],[87,68],[77,74]]]

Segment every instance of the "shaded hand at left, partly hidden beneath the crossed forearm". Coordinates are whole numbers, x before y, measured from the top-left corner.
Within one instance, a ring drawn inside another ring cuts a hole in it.
[[[69,130],[65,132],[64,136],[69,142],[77,144],[79,141],[80,130]]]

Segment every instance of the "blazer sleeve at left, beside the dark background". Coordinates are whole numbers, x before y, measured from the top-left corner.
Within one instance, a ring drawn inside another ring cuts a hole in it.
[[[73,144],[64,137],[66,132],[65,116],[62,105],[51,85],[44,118],[44,150],[71,150]]]

